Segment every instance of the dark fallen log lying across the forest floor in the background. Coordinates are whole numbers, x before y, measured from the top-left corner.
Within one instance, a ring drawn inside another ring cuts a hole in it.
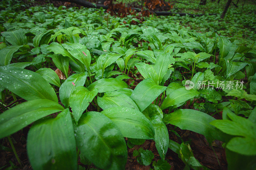
[[[108,9],[108,5],[102,5],[102,4],[92,4],[88,1],[85,0],[58,0],[58,1],[68,1],[68,2],[72,2],[72,3],[76,3],[79,5],[82,5],[84,7],[87,8],[103,8],[103,9]],[[140,8],[131,8],[132,10],[135,11],[140,11]],[[191,16],[191,17],[200,17],[206,14],[189,14],[189,13],[180,13],[180,12],[167,12],[167,11],[153,11],[154,14],[156,14],[157,16],[168,16],[168,15],[177,15],[179,14],[180,16]],[[218,14],[208,14],[208,15],[218,15]]]

